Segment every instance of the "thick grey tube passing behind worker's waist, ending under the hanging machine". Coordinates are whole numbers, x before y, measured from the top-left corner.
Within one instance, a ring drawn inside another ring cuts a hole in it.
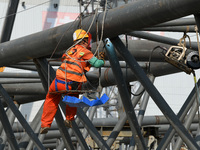
[[[181,70],[175,68],[174,66],[168,64],[168,63],[151,63],[151,74],[153,74],[155,77],[167,75],[171,73],[177,73],[181,72]],[[145,70],[148,69],[148,66]],[[159,70],[159,71],[158,71]],[[130,71],[130,69],[122,69],[124,78],[126,78],[127,82],[135,81],[137,80],[134,73]],[[127,74],[126,74],[127,72]],[[90,75],[96,75],[96,79],[98,79],[98,71],[94,72],[88,72],[88,77],[90,79]],[[101,85],[103,87],[116,85],[116,81],[113,78],[113,72],[111,68],[107,68],[105,70],[102,70],[101,72]],[[31,86],[28,83],[24,84],[3,84],[3,87],[6,89],[6,91],[9,94],[12,95],[46,95],[46,92],[44,91],[44,88],[42,87],[41,83],[32,83]],[[86,86],[87,87],[87,86]],[[28,100],[27,100],[28,101]]]

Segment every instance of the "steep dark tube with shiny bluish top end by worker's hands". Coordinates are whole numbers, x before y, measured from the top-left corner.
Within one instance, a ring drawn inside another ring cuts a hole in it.
[[[127,89],[127,84],[123,78],[123,74],[119,65],[119,61],[117,59],[115,49],[112,46],[112,43],[109,41],[109,39],[105,40],[105,47],[106,47],[106,52],[110,61],[110,64],[112,66],[112,70],[114,73],[114,77],[117,83],[117,87],[122,99],[122,103],[132,130],[132,134],[134,136],[134,139],[136,141],[137,148],[139,150],[145,150],[146,146],[144,143],[144,139],[142,137],[141,131],[139,124],[137,122],[137,118],[135,115],[135,110],[134,107],[131,103],[130,95]]]

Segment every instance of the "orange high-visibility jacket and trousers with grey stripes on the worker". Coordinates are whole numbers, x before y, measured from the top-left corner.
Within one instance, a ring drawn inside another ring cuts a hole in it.
[[[91,65],[87,62],[93,57],[93,53],[81,45],[71,48],[67,54],[63,54],[63,63],[56,71],[56,78],[53,80],[46,95],[41,118],[41,127],[50,127],[54,119],[62,94],[56,91],[80,90],[83,82],[86,82],[84,72],[89,71]],[[66,86],[67,81],[68,86]],[[54,92],[54,93],[51,93]],[[79,97],[78,93],[67,93],[67,95]],[[66,119],[74,120],[77,108],[66,105]]]

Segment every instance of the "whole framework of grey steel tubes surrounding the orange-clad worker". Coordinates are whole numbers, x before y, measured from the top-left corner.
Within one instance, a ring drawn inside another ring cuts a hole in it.
[[[7,16],[17,11],[18,2],[9,1]],[[80,8],[87,10],[89,1],[79,2]],[[128,4],[117,7],[124,2],[112,0],[108,1],[108,8],[112,10],[105,8],[106,1],[91,2],[92,13],[86,13],[87,17],[80,18],[81,25],[87,30],[94,17],[98,28],[96,29],[94,23],[90,32],[93,37],[96,38],[96,33],[99,33],[100,37],[106,10],[103,32],[106,64],[101,68],[100,78],[98,70],[87,73],[90,83],[86,83],[84,88],[90,88],[91,83],[100,80],[104,87],[101,92],[110,97],[109,102],[98,107],[78,108],[71,129],[64,126],[62,114],[65,113],[65,104],[60,102],[50,131],[47,135],[40,135],[42,106],[32,122],[27,122],[18,108],[25,103],[45,99],[48,91],[48,72],[52,81],[55,77],[53,67],[60,65],[56,62],[48,63],[49,55],[53,52],[52,47],[56,47],[59,39],[63,38],[55,54],[55,58],[60,57],[63,50],[72,45],[71,34],[80,24],[80,20],[9,41],[15,15],[7,17],[1,33],[0,66],[31,70],[34,73],[0,72],[0,149],[103,150],[126,147],[138,150],[164,150],[171,147],[180,149],[183,145],[191,150],[200,149],[197,125],[199,108],[195,103],[197,90],[195,88],[191,90],[176,115],[153,84],[158,76],[181,72],[164,62],[164,55],[160,55],[171,45],[177,45],[179,40],[145,32],[195,32],[195,25],[200,29],[200,1],[176,0],[176,3],[173,0],[124,1]],[[94,7],[99,3],[102,9],[96,15]],[[188,15],[194,15],[194,18],[182,18]],[[65,29],[72,25],[73,27],[65,33]],[[200,34],[199,30],[198,33]],[[124,41],[118,37],[121,34],[148,41],[127,39]],[[93,45],[93,50],[96,48],[95,45],[96,43]],[[158,45],[163,49],[155,51],[152,55],[152,49]],[[186,46],[190,48],[188,52],[191,52],[197,51],[199,45],[197,42],[192,42],[191,47],[190,43],[186,43]],[[103,49],[103,44],[100,49]],[[16,54],[19,57],[13,57]],[[139,86],[135,86],[138,81]],[[154,100],[164,116],[145,116],[149,97]],[[100,115],[99,112],[105,115]],[[100,118],[102,116],[105,117]],[[14,122],[15,117],[20,126]]]

